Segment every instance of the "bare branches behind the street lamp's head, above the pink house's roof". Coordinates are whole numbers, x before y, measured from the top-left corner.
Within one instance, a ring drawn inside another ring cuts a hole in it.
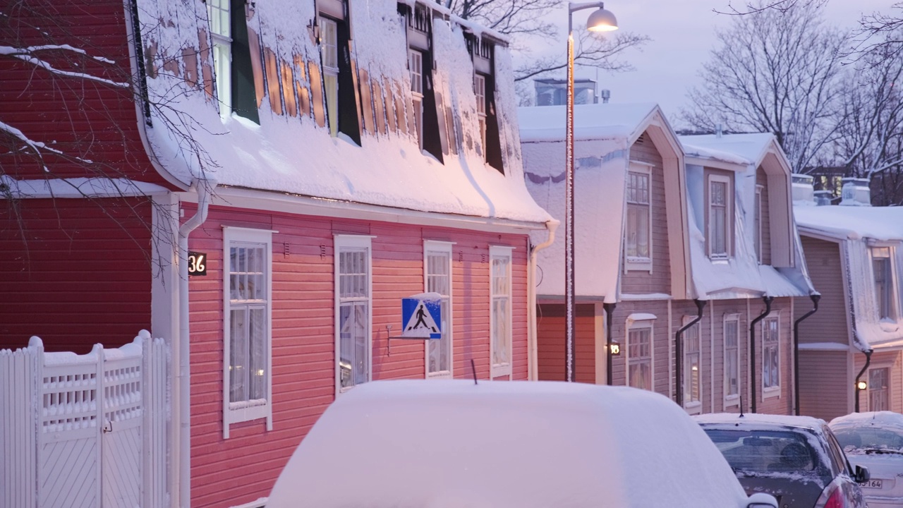
[[[558,30],[549,19],[555,13],[567,15],[565,4],[560,0],[447,0],[445,5],[463,19],[510,36],[521,52],[528,52],[526,46],[530,40],[558,41]],[[620,58],[622,53],[640,49],[649,41],[647,36],[636,33],[601,35],[587,32],[582,27],[574,32],[579,33],[574,42],[574,62],[611,72],[633,70],[628,61]],[[515,70],[515,81],[563,70],[567,62],[564,51],[559,53],[560,56],[535,60],[525,58],[527,62]]]

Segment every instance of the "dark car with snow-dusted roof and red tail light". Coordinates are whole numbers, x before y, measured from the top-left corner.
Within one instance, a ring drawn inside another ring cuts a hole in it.
[[[782,508],[865,508],[859,482],[822,419],[721,413],[694,417],[733,467],[747,494],[764,492]]]

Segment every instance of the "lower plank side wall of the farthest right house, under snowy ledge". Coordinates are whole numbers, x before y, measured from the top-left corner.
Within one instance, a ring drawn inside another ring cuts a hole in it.
[[[848,372],[848,354],[845,351],[799,352],[801,415],[830,421],[849,412],[847,407],[852,408],[852,386],[848,385],[847,380],[852,379],[855,372],[852,376]]]

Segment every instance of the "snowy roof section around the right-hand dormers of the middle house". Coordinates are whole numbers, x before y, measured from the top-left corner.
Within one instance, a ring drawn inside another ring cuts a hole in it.
[[[679,136],[686,165],[690,259],[693,283],[701,299],[730,299],[749,296],[808,296],[814,290],[805,273],[805,262],[796,256],[789,268],[760,265],[753,242],[757,171],[769,152],[784,157],[771,134],[726,134],[721,136]],[[695,159],[691,159],[691,155]],[[715,160],[738,165],[734,177],[734,244],[730,259],[712,260],[705,243],[705,182],[703,165]],[[691,161],[695,164],[691,164]],[[777,165],[771,171],[788,171]],[[789,173],[787,173],[787,193]],[[782,179],[777,179],[782,181]],[[787,212],[789,210],[787,209]],[[796,230],[791,231],[796,239]],[[796,243],[796,242],[794,242]]]

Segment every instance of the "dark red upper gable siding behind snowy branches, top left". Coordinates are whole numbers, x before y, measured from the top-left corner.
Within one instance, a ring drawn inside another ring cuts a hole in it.
[[[123,3],[116,0],[33,3],[7,18],[8,33],[18,39],[9,42],[22,47],[70,44],[90,57],[115,63],[100,63],[73,52],[48,51],[41,56],[63,71],[131,82],[125,14]],[[169,185],[144,152],[131,88],[61,77],[14,58],[0,59],[0,76],[4,122],[54,150],[92,161],[90,165],[73,163],[74,158],[45,154],[46,173],[31,150],[4,150],[0,167],[5,174],[40,179],[106,176]]]

